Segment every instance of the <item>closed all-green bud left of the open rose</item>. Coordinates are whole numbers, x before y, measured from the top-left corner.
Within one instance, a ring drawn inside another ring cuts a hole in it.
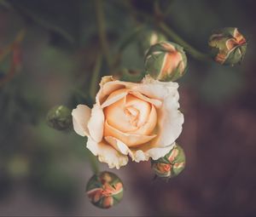
[[[71,110],[66,106],[55,106],[49,110],[46,121],[51,128],[68,129],[72,126]]]

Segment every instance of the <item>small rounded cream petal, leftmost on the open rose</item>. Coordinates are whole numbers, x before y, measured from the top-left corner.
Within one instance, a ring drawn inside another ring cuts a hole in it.
[[[79,105],[72,111],[73,116],[73,129],[81,136],[88,136],[89,130],[87,123],[90,119],[90,108],[85,105]]]

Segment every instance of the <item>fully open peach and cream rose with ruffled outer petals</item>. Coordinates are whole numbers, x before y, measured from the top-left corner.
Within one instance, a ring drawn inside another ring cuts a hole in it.
[[[109,168],[156,160],[172,150],[182,131],[178,84],[145,77],[128,83],[102,77],[96,104],[73,109],[73,128],[87,136],[87,148]]]

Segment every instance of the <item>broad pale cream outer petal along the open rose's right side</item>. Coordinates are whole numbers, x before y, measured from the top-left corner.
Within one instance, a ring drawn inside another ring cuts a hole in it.
[[[170,146],[182,132],[184,120],[183,114],[177,110],[179,108],[177,88],[177,83],[163,83],[152,77],[145,77],[143,84],[134,88],[148,97],[163,102],[158,109],[158,136],[152,141],[154,146]]]

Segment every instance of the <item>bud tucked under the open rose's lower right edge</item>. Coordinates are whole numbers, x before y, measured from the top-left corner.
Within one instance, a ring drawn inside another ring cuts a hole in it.
[[[181,146],[175,145],[165,157],[160,157],[156,161],[152,160],[151,166],[154,173],[159,177],[169,179],[183,171],[185,162],[186,159],[183,149]]]

